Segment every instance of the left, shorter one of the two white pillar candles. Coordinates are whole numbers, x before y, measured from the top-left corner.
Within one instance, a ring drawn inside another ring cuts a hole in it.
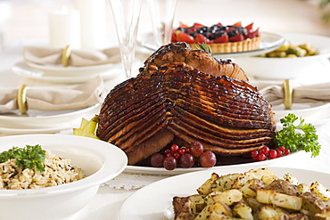
[[[68,10],[66,6],[60,11],[49,15],[50,45],[64,47],[70,45],[74,48],[81,46],[80,18],[75,9]]]

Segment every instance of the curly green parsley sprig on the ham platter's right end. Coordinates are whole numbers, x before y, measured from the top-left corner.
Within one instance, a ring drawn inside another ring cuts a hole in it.
[[[299,119],[299,123],[295,123],[297,119]],[[281,118],[280,122],[283,124],[283,128],[277,132],[274,139],[277,146],[284,146],[293,152],[299,150],[311,152],[312,157],[318,156],[321,145],[318,143],[315,126],[305,124],[304,119],[298,118],[292,113]]]

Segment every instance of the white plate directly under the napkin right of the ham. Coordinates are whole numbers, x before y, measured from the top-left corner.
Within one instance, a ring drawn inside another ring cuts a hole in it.
[[[289,113],[305,119],[305,122],[314,126],[324,124],[330,119],[330,102],[293,103],[291,110],[285,110],[285,105],[280,104],[274,105],[272,110],[275,112],[276,122],[285,118]]]

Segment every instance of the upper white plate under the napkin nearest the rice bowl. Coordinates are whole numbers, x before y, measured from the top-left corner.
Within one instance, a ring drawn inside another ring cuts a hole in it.
[[[0,125],[1,127],[13,129],[64,127],[71,124],[76,119],[81,120],[81,118],[88,112],[97,111],[99,107],[100,104],[95,104],[80,110],[29,110],[28,116],[21,116],[18,111],[13,111],[13,113],[0,114]]]

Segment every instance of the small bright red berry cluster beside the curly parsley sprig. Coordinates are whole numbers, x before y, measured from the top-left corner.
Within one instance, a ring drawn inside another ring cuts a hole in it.
[[[269,149],[268,147],[262,147],[260,151],[251,151],[250,155],[254,161],[262,161],[266,159],[276,159],[284,155],[290,154],[290,150],[281,146],[276,149]]]

